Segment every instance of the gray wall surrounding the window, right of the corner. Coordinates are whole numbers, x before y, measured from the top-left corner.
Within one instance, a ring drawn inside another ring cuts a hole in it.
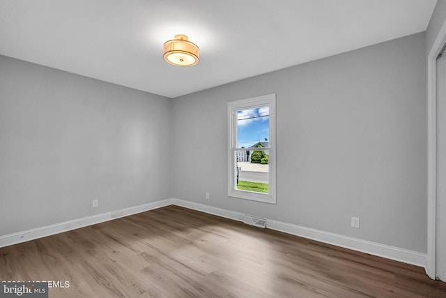
[[[174,198],[425,253],[425,49],[417,33],[176,98]],[[228,198],[226,103],[271,93],[277,204]]]

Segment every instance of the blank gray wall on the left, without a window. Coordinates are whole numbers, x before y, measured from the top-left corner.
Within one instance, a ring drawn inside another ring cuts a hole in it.
[[[170,131],[169,98],[0,56],[0,235],[171,198]]]

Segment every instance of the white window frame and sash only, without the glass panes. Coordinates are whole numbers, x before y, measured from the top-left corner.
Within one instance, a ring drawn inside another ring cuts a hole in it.
[[[258,149],[249,148],[249,151],[268,150],[269,172],[268,172],[268,193],[257,193],[254,191],[242,191],[236,189],[237,169],[236,151],[247,150],[247,148],[237,147],[237,111],[248,110],[256,107],[269,107],[269,130],[270,147],[260,147]],[[228,196],[276,204],[276,94],[268,94],[253,98],[231,101],[228,103]]]

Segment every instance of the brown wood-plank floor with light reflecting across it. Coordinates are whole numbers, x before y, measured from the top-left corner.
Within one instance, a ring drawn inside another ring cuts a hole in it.
[[[169,206],[0,248],[49,297],[446,297],[424,269]]]

